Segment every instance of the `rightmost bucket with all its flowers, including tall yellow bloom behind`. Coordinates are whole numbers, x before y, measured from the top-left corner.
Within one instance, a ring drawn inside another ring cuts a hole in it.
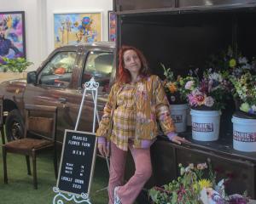
[[[247,59],[231,47],[220,55],[212,58],[212,67],[221,67],[236,104],[232,117],[233,147],[256,151],[256,60]]]

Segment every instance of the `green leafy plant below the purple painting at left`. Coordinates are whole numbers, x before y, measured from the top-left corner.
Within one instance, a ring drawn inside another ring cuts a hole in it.
[[[25,71],[26,68],[32,64],[32,62],[27,61],[25,58],[9,59],[3,57],[0,67],[2,67],[3,71],[22,72]]]

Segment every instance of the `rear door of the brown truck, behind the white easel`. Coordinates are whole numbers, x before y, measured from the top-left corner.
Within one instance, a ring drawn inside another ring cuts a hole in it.
[[[79,80],[77,91],[69,94],[67,97],[67,106],[69,109],[70,118],[72,118],[73,128],[75,127],[77,117],[79,115],[79,106],[81,103],[84,88],[82,84],[89,82],[91,77],[94,77],[96,82],[99,82],[97,109],[101,118],[104,105],[108,99],[109,82],[113,73],[113,52],[110,51],[89,51],[86,52],[85,58],[81,58],[81,78]],[[92,94],[88,91],[85,95],[84,106],[79,121],[79,131],[92,131],[93,125],[94,102]],[[96,127],[98,123],[96,122]]]

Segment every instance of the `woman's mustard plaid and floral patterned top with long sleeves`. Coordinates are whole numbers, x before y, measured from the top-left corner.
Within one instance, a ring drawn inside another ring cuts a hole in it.
[[[129,140],[134,148],[148,148],[159,135],[157,123],[167,136],[175,132],[160,78],[152,75],[139,78],[134,86],[113,85],[96,136],[121,150],[128,149]]]

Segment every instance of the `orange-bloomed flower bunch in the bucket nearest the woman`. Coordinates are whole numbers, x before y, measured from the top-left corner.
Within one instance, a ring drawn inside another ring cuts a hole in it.
[[[165,65],[160,64],[164,69],[164,75],[166,79],[164,80],[164,88],[166,91],[167,99],[170,104],[186,104],[186,98],[183,94],[180,94],[182,86],[180,84],[180,76],[175,77],[171,68],[166,68]]]

